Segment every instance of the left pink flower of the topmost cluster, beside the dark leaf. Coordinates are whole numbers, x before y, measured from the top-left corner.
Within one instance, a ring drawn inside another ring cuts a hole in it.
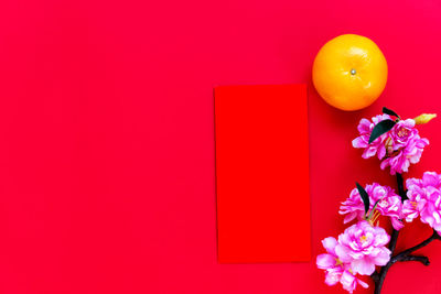
[[[385,140],[387,139],[387,134],[381,134],[377,138],[374,142],[369,144],[370,133],[374,130],[374,127],[385,120],[390,119],[388,115],[379,115],[372,118],[372,122],[367,119],[362,119],[357,127],[359,137],[355,138],[352,141],[352,145],[354,148],[364,148],[365,151],[363,152],[363,159],[369,159],[377,154],[378,159],[381,160],[386,155],[386,146]]]

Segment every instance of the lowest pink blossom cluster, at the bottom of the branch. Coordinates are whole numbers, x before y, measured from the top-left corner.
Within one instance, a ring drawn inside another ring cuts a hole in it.
[[[383,228],[374,227],[366,220],[347,228],[338,240],[325,238],[322,243],[327,253],[316,258],[318,268],[325,271],[325,283],[330,286],[341,283],[349,293],[357,285],[368,287],[357,274],[370,275],[376,265],[387,264],[390,251],[386,244],[389,240]]]

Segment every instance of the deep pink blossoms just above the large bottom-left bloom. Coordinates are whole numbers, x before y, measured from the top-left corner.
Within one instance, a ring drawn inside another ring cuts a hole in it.
[[[395,194],[394,189],[388,186],[381,186],[377,183],[372,185],[366,185],[365,187],[367,194],[369,195],[369,211],[374,209],[375,204],[378,202],[376,211],[383,216],[390,217],[392,226],[396,230],[400,230],[404,225],[401,222],[401,197]],[[338,214],[346,215],[343,222],[347,224],[354,219],[363,220],[365,219],[365,208],[359,196],[358,189],[354,188],[351,192],[349,197],[342,203]],[[373,214],[374,219],[377,217]]]

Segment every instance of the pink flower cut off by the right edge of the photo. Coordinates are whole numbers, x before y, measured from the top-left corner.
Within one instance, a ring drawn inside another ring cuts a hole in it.
[[[408,179],[406,186],[409,197],[402,206],[406,220],[420,216],[422,222],[441,232],[441,175],[426,172],[421,179]]]

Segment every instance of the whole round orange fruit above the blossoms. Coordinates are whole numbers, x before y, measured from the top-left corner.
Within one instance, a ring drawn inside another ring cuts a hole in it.
[[[312,81],[327,104],[342,110],[358,110],[372,105],[385,89],[387,62],[372,40],[340,35],[315,56]]]

